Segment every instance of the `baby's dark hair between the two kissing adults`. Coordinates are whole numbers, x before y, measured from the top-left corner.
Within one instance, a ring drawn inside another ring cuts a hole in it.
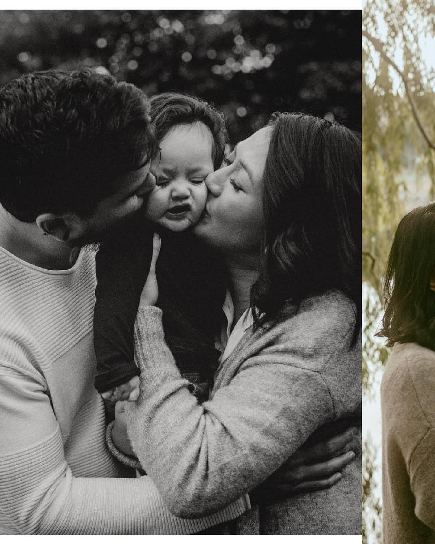
[[[217,170],[223,159],[228,133],[225,118],[208,102],[179,92],[162,92],[150,99],[154,135],[160,143],[171,128],[177,125],[204,123],[212,133],[212,158]]]

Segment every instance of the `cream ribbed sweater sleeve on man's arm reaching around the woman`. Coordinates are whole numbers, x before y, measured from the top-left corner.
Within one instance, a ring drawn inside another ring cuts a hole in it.
[[[240,499],[215,516],[181,520],[150,477],[74,477],[38,374],[0,362],[0,532],[190,534],[246,510]]]

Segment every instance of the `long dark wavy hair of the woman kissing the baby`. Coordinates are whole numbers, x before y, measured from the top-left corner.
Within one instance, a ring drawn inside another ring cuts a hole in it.
[[[337,289],[357,308],[353,344],[361,329],[361,135],[304,114],[275,113],[269,125],[254,321]]]

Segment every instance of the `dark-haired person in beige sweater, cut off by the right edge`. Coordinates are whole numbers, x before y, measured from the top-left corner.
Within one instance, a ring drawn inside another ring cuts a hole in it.
[[[383,538],[435,542],[435,203],[401,219],[384,280]]]

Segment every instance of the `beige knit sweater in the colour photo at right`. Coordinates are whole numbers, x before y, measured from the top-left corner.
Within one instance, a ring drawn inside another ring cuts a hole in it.
[[[381,384],[384,544],[435,544],[435,352],[395,344]]]

